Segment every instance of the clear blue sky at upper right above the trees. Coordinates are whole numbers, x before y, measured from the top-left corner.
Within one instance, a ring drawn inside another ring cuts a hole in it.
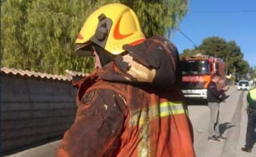
[[[256,0],[190,0],[190,11],[179,29],[197,45],[213,35],[234,40],[244,59],[256,66]],[[179,53],[194,48],[178,31],[171,34],[170,40]]]

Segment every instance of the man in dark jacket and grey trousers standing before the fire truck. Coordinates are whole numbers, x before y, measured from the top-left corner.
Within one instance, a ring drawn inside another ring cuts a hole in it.
[[[219,140],[226,140],[219,133],[219,103],[222,100],[222,96],[229,87],[224,87],[222,90],[218,91],[217,84],[220,80],[220,75],[215,73],[212,77],[211,82],[208,84],[207,88],[207,102],[210,108],[210,124],[209,124],[209,141],[219,142]]]

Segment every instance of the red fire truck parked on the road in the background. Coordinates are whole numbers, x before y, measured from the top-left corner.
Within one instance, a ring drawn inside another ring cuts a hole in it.
[[[225,84],[225,62],[221,58],[197,55],[182,60],[182,92],[188,98],[207,98],[207,86],[212,75],[219,73],[221,81],[218,88]]]

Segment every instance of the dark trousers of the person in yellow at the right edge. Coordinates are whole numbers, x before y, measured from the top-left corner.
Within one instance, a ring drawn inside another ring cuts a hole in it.
[[[251,111],[248,115],[247,131],[246,131],[246,148],[253,148],[256,142],[256,110]]]

